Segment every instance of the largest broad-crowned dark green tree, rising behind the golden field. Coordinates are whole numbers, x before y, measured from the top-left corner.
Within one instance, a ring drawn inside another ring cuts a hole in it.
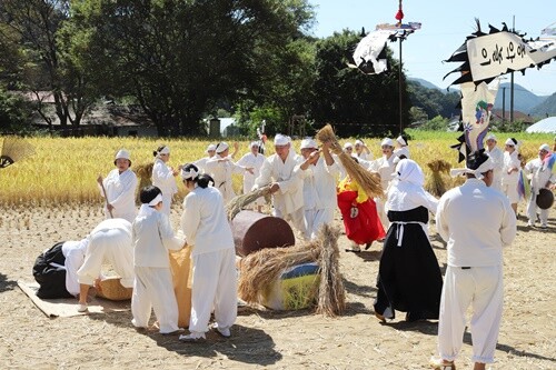
[[[133,96],[159,134],[196,134],[221,101],[261,91],[277,51],[312,21],[305,0],[79,0],[72,33],[85,62]]]

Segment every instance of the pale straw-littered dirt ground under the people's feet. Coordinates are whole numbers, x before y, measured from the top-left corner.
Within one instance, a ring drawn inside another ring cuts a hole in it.
[[[377,321],[373,300],[380,246],[345,252],[344,234],[347,311],[339,318],[247,309],[231,339],[210,332],[205,344],[181,343],[155,329],[139,333],[130,311],[49,319],[17,281],[32,281],[33,261],[43,249],[92,230],[102,219],[100,207],[3,207],[0,212],[0,369],[427,369],[436,352],[436,321],[406,323],[403,313],[385,324]],[[175,224],[178,212],[179,206]],[[431,239],[444,272],[446,249],[434,224]],[[556,210],[548,230],[527,228],[519,217],[518,236],[504,257],[505,310],[493,369],[556,369],[555,248]],[[464,342],[457,364],[470,369],[468,332]]]

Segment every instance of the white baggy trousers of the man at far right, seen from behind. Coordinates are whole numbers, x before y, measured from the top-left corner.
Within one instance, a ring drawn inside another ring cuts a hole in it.
[[[440,300],[438,352],[454,361],[463,344],[465,314],[473,308],[470,332],[473,362],[492,363],[500,328],[504,287],[502,266],[448,266]]]

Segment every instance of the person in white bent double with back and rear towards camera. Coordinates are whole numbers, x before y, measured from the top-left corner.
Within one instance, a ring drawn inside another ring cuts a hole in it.
[[[91,231],[88,239],[83,264],[77,271],[80,284],[79,312],[87,311],[87,294],[91,286],[98,286],[105,261],[112,266],[123,287],[132,288],[135,279],[131,223],[128,220],[105,220]]]

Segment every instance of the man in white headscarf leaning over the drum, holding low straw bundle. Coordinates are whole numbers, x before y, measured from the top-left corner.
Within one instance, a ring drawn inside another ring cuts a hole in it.
[[[272,216],[291,220],[305,238],[302,158],[291,149],[289,138],[280,133],[275,137],[275,151],[262,163],[252,190],[270,184]]]

